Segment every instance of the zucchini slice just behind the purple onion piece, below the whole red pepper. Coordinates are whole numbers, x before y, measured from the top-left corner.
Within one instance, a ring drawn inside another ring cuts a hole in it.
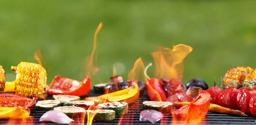
[[[142,103],[142,110],[153,109],[162,113],[169,113],[173,109],[171,102],[145,101]]]

